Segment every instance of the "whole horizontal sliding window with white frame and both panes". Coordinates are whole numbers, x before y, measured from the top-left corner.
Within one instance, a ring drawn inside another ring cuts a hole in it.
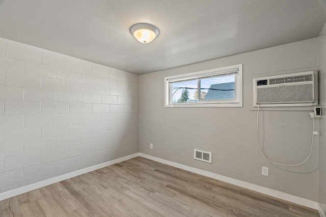
[[[242,107],[242,64],[165,77],[165,107]]]

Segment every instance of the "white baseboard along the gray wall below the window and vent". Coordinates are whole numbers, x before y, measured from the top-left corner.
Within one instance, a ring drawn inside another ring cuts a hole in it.
[[[147,158],[147,159],[152,160],[152,161],[162,163],[162,164],[167,164],[167,165],[170,165],[170,166],[173,166],[173,167],[177,167],[179,169],[183,169],[183,170],[186,170],[186,171],[189,171],[189,172],[193,172],[193,173],[204,175],[204,176],[207,176],[207,177],[210,177],[210,178],[218,179],[220,181],[224,181],[224,182],[227,182],[227,183],[230,183],[230,184],[234,184],[234,185],[237,185],[239,187],[250,189],[250,190],[253,190],[255,192],[265,194],[265,195],[269,195],[269,196],[276,197],[276,198],[279,198],[279,199],[282,199],[282,200],[286,200],[286,201],[289,201],[289,202],[292,202],[292,203],[296,203],[296,204],[303,205],[303,206],[306,206],[306,207],[309,207],[309,208],[313,208],[313,209],[318,210],[319,212],[321,210],[321,207],[320,207],[319,203],[317,203],[315,201],[312,201],[312,200],[308,200],[308,199],[305,199],[305,198],[293,196],[293,195],[286,194],[286,193],[283,193],[283,192],[280,192],[280,191],[276,191],[276,190],[273,190],[273,189],[268,189],[268,188],[261,187],[261,186],[256,185],[256,184],[252,184],[252,183],[245,182],[245,181],[240,181],[240,180],[237,180],[237,179],[234,179],[234,178],[230,178],[230,177],[227,177],[227,176],[223,176],[223,175],[208,172],[208,171],[205,171],[205,170],[197,169],[197,168],[194,168],[194,167],[189,167],[189,166],[186,166],[186,165],[183,165],[183,164],[178,164],[178,163],[175,163],[175,162],[172,162],[172,161],[167,161],[167,160],[164,160],[164,159],[156,158],[156,157],[150,156],[148,154],[139,153],[139,156],[143,157],[143,158]],[[322,215],[320,215],[320,216],[322,216]],[[326,217],[326,216],[323,215],[322,217]]]

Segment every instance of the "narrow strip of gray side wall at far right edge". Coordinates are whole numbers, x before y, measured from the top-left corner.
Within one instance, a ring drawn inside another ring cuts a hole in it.
[[[319,203],[326,213],[326,24],[319,37],[319,92],[323,116],[319,120]]]

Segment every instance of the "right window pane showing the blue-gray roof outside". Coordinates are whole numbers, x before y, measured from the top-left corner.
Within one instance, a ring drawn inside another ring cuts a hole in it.
[[[235,75],[200,80],[201,100],[234,100]]]

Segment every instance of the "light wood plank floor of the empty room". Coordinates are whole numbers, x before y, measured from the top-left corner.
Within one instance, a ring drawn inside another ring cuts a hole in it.
[[[137,157],[0,201],[0,216],[319,216],[314,209]]]

